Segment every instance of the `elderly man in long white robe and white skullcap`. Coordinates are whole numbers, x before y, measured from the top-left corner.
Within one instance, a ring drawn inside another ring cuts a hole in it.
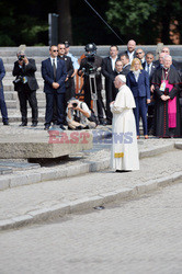
[[[126,85],[126,77],[120,75],[114,80],[118,89],[115,101],[110,104],[113,113],[111,168],[117,172],[139,170],[136,124],[133,109],[135,100]]]

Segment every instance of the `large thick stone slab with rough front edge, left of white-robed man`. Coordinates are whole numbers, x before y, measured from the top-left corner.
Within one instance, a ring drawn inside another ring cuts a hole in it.
[[[2,128],[2,127],[1,127]],[[1,159],[58,158],[92,148],[91,130],[22,129],[0,130]]]

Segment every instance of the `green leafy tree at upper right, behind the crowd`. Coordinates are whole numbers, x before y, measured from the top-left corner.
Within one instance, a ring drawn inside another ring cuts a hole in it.
[[[138,44],[156,44],[161,38],[171,44],[170,23],[174,20],[181,27],[180,0],[109,0],[107,20],[127,39]]]

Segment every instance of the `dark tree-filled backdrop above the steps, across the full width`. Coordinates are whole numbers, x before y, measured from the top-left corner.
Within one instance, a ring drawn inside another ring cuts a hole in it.
[[[182,32],[180,0],[88,0],[122,39],[137,44],[171,44],[173,32]],[[20,44],[48,45],[48,13],[59,13],[59,41],[73,45],[94,42],[98,45],[120,44],[120,39],[90,9],[84,0],[1,0],[0,46]]]

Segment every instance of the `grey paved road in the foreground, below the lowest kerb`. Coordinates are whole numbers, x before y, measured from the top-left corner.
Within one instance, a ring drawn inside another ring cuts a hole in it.
[[[1,274],[181,274],[182,184],[0,233]]]

